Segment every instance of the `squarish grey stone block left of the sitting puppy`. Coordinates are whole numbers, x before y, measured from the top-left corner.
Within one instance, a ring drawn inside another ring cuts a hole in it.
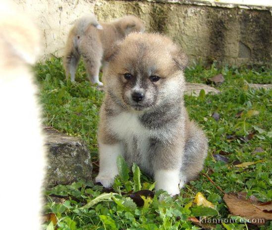
[[[70,184],[78,179],[91,180],[92,162],[86,144],[78,137],[67,136],[45,127],[48,167],[45,187]]]

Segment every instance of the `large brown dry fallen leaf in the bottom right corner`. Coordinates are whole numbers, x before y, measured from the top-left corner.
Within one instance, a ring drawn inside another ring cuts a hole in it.
[[[223,200],[232,215],[255,219],[256,223],[252,221],[254,225],[264,225],[266,221],[272,220],[272,213],[266,213],[252,204],[250,199],[246,200],[246,193],[225,193]]]

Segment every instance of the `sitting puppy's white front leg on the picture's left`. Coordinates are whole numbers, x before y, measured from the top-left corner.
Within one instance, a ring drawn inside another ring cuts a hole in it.
[[[106,188],[111,187],[114,177],[118,175],[117,157],[123,154],[121,143],[99,144],[99,173],[96,182],[102,183]]]

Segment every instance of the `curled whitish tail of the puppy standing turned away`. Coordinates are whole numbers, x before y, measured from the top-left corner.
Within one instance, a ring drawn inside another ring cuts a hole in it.
[[[83,16],[76,20],[75,22],[76,34],[79,36],[85,34],[90,24],[99,30],[103,29],[102,25],[100,25],[99,22],[97,21],[96,16],[92,13],[90,15]]]

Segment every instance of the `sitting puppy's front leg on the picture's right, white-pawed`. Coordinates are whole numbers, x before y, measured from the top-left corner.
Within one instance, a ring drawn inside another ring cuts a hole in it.
[[[170,195],[179,194],[181,148],[158,148],[155,155],[154,175],[156,190],[163,189]]]

